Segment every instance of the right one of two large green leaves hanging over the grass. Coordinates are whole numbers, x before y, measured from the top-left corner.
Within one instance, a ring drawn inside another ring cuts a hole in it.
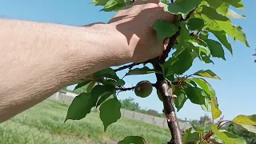
[[[117,122],[121,118],[121,103],[117,98],[111,98],[106,102],[102,103],[100,106],[100,118],[104,125],[104,131],[106,131],[107,126]]]

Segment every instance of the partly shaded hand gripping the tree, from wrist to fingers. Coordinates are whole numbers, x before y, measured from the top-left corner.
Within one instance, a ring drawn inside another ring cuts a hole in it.
[[[163,10],[164,3],[158,0],[137,1],[120,10],[109,22],[126,36],[130,62],[145,62],[158,57],[166,49],[165,41],[157,41],[153,24],[157,19],[174,22],[175,16]],[[164,42],[163,42],[164,41]]]

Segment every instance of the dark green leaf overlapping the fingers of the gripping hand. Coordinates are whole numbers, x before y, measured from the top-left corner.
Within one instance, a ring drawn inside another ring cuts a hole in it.
[[[157,32],[158,41],[170,38],[178,32],[178,28],[174,24],[161,19],[154,22],[153,29]]]

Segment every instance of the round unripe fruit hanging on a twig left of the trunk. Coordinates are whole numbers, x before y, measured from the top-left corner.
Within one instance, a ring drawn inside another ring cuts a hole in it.
[[[135,86],[134,93],[141,98],[146,98],[152,93],[152,83],[149,81],[138,82]]]

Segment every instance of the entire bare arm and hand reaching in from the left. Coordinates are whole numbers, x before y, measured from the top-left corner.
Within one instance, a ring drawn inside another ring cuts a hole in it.
[[[157,57],[167,41],[152,25],[174,22],[162,6],[135,2],[106,24],[79,27],[1,19],[0,122],[98,70]]]

